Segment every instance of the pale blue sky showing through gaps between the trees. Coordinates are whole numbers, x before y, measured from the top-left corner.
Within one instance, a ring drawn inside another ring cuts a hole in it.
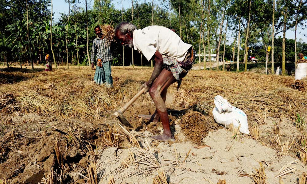
[[[52,0],[52,2],[53,2],[52,9],[54,12],[54,21],[57,22],[60,18],[60,13],[68,13],[69,6],[67,3],[64,2],[64,0]],[[81,3],[79,4],[79,6],[85,7],[85,1],[80,0],[80,2]],[[122,4],[123,4],[124,9],[131,7],[131,1],[128,1],[128,0],[123,0],[123,2],[121,0],[114,0],[112,2],[115,8],[120,9],[120,10],[122,9]],[[141,2],[151,2],[151,1],[150,0],[140,0],[138,2],[141,3]],[[87,0],[88,7],[93,6],[93,3],[94,3],[93,0]],[[51,10],[51,6],[49,6],[48,9]],[[302,39],[303,42],[307,43],[307,38],[304,36],[304,33],[306,34],[307,31],[302,30],[300,28],[297,29],[297,41]],[[227,35],[228,35],[228,43],[232,43],[234,38],[231,38],[231,34],[227,34]],[[282,33],[279,33],[275,38],[277,38],[278,36],[282,36]],[[295,37],[294,30],[288,30],[286,32],[286,38],[294,39],[294,37]]]

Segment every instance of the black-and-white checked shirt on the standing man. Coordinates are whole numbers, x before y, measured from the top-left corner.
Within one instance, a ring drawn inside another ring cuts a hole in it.
[[[110,48],[111,44],[107,42],[107,39],[100,39],[98,37],[95,38],[93,40],[91,63],[94,63],[94,61],[96,61],[97,59],[102,59],[103,62],[112,60],[113,57]]]

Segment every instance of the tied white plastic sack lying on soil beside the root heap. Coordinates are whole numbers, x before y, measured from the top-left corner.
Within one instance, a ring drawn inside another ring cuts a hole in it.
[[[214,104],[216,108],[213,109],[212,114],[217,123],[225,127],[231,123],[234,127],[239,127],[240,125],[240,132],[249,134],[247,116],[242,110],[232,106],[220,95],[214,98]]]

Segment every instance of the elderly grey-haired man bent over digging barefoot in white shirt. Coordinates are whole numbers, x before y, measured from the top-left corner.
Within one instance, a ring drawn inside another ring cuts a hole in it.
[[[130,22],[122,22],[117,25],[115,36],[122,45],[133,47],[148,61],[154,59],[156,62],[150,79],[141,87],[141,89],[145,88],[144,94],[149,91],[156,111],[152,116],[139,115],[138,117],[153,122],[158,122],[160,118],[163,134],[152,138],[174,141],[165,105],[166,92],[167,88],[176,81],[178,89],[181,79],[191,70],[195,58],[192,45],[184,43],[172,30],[157,25],[137,29]]]

